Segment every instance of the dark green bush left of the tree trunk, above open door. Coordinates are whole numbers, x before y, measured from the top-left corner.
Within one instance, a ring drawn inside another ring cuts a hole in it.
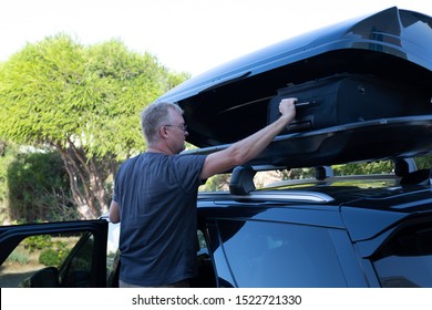
[[[58,153],[16,153],[8,166],[9,211],[21,223],[78,219],[68,174]]]

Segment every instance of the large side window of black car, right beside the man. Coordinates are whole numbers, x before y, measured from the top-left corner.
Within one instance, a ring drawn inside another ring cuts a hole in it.
[[[347,286],[326,228],[219,220],[218,230],[229,266],[218,276],[230,270],[238,287]]]

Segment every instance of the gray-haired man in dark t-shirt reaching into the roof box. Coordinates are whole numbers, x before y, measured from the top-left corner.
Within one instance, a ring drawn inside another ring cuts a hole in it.
[[[181,155],[187,137],[183,111],[153,103],[141,114],[147,151],[115,177],[110,219],[121,221],[120,287],[187,287],[195,276],[196,200],[208,177],[253,159],[295,117],[297,99],[257,133],[209,155]]]

